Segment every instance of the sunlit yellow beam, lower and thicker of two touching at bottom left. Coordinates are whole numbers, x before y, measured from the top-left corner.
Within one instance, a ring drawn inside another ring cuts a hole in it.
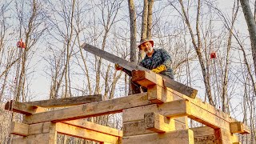
[[[114,137],[113,135],[99,133],[94,130],[85,130],[81,127],[68,125],[61,122],[56,123],[56,130],[59,134],[66,134],[96,142],[109,142],[118,144],[118,137]]]

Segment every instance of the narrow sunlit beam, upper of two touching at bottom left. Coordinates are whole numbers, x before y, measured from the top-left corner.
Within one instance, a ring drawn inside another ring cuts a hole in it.
[[[93,122],[87,122],[85,120],[73,120],[73,121],[66,121],[63,122],[69,125],[73,125],[73,126],[78,126],[78,127],[82,127],[85,128],[87,130],[94,130],[103,134],[109,134],[109,135],[113,135],[116,137],[122,137],[122,130],[117,130],[114,128],[110,128],[108,126],[102,126],[102,125],[98,125],[96,123]]]

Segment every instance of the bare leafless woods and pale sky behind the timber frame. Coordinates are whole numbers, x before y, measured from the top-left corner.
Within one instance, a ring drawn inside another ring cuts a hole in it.
[[[1,0],[0,8],[0,143],[9,137],[10,122],[22,120],[3,109],[11,99],[130,94],[129,76],[80,46],[87,42],[139,62],[144,54],[137,44],[145,38],[171,54],[176,81],[246,123],[251,133],[241,142],[256,143],[255,0]],[[21,39],[25,48],[16,46]],[[122,128],[121,114],[89,120]]]

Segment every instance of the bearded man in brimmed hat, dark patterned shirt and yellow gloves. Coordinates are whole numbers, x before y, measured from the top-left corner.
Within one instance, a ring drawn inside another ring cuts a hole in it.
[[[156,74],[161,74],[163,77],[174,79],[173,70],[170,68],[171,57],[164,49],[153,49],[154,41],[145,40],[138,45],[139,50],[143,50],[146,53],[146,57],[142,59],[139,66],[143,66],[146,69],[152,70]],[[126,74],[131,76],[131,72],[115,64],[116,70],[122,70]],[[137,83],[131,82],[131,88],[133,94],[139,94],[141,92],[140,86]],[[145,88],[142,88],[146,92]]]

